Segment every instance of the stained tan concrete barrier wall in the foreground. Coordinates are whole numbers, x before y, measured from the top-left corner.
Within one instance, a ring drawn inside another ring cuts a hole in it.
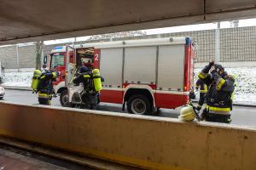
[[[149,169],[255,169],[256,128],[0,102],[0,134]]]

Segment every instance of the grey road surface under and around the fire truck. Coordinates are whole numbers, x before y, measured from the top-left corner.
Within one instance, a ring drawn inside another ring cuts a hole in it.
[[[31,91],[6,89],[3,100],[26,105],[38,105],[38,96],[37,94],[32,94]],[[59,97],[52,100],[52,105],[61,106]],[[123,112],[121,106],[122,105],[102,103],[98,110]],[[179,108],[176,110],[160,109],[160,111],[155,112],[153,116],[177,118],[179,110]],[[127,111],[125,111],[124,114],[128,114]],[[232,124],[256,127],[256,109],[252,107],[234,106],[232,120]]]

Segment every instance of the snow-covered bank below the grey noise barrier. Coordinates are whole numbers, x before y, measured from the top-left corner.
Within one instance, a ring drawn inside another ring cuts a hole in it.
[[[195,80],[201,69],[195,69]],[[235,102],[256,104],[256,67],[226,68],[236,77]],[[7,72],[3,77],[3,86],[26,86],[32,81],[32,71]]]

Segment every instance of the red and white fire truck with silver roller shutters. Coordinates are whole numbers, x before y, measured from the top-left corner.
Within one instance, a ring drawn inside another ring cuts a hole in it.
[[[149,114],[154,108],[187,104],[193,57],[189,37],[93,42],[54,48],[49,68],[61,71],[55,93],[61,94],[63,106],[77,103],[71,80],[75,70],[86,65],[100,69],[105,79],[101,102],[122,104],[123,109],[126,105],[130,113]]]

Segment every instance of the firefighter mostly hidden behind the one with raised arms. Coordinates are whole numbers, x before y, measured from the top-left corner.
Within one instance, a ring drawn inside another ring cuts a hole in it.
[[[202,105],[205,102],[205,97],[207,94],[207,84],[205,82],[202,81],[201,78],[199,78],[196,82],[195,82],[195,89],[199,90],[200,92],[200,96],[199,96],[199,101],[198,101],[198,105],[196,107],[197,111],[201,110]]]

